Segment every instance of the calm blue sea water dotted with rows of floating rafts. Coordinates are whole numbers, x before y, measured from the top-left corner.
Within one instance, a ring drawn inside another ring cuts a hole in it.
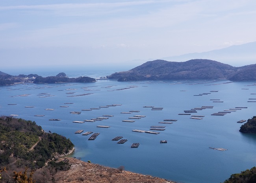
[[[65,73],[99,78],[116,71]],[[212,115],[220,112],[224,115]],[[256,165],[256,134],[239,132],[243,123],[237,123],[256,115],[256,81],[106,79],[15,84],[0,86],[0,115],[35,121],[47,133],[69,138],[75,145],[70,157],[176,182],[219,183]],[[135,115],[143,117],[130,118]],[[200,117],[193,119],[193,115]],[[108,119],[84,121],[102,117]],[[75,134],[77,130],[83,132]],[[82,135],[85,132],[93,133]],[[88,140],[95,133],[98,136]],[[127,141],[117,143],[115,137]],[[131,148],[133,143],[139,146]]]

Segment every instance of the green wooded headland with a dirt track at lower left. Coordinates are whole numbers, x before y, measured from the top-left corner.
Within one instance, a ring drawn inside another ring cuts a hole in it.
[[[0,117],[0,168],[14,161],[17,167],[41,168],[55,154],[67,154],[73,147],[66,137],[45,133],[35,122]]]

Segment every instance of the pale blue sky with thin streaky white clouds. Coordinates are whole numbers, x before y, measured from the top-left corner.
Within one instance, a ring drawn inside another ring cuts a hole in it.
[[[256,41],[255,0],[8,0],[0,17],[1,71],[131,69]]]

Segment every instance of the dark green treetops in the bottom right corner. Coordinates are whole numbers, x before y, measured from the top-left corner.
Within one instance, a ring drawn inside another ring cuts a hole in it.
[[[250,170],[242,171],[240,174],[232,174],[224,183],[255,183],[256,182],[256,167]]]

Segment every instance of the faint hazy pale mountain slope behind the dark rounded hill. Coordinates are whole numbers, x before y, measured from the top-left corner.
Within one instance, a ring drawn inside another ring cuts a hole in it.
[[[225,63],[255,63],[256,62],[256,42],[249,42],[241,45],[234,45],[228,48],[216,49],[202,53],[188,53],[179,56],[164,57],[163,60],[173,62],[184,62],[191,59],[211,59]]]

